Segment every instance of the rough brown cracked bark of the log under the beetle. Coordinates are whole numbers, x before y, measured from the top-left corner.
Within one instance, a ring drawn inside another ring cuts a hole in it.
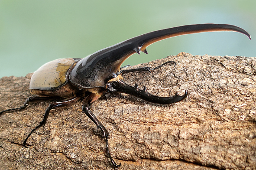
[[[155,95],[176,91],[186,100],[152,104],[125,94],[106,93],[91,110],[110,133],[109,147],[119,170],[255,170],[256,58],[192,56],[180,53],[138,66],[177,65],[124,76],[130,85],[146,85]],[[134,66],[134,67],[138,67]],[[29,77],[0,79],[0,111],[16,108],[29,96]],[[34,103],[0,117],[1,170],[113,169],[101,132],[81,104],[52,110]]]

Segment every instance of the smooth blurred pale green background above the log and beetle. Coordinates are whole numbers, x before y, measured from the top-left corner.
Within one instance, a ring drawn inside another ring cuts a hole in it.
[[[237,25],[252,40],[234,32],[173,37],[124,64],[182,51],[255,57],[256,0],[0,0],[0,77],[25,76],[56,58],[84,58],[143,33],[201,23]]]

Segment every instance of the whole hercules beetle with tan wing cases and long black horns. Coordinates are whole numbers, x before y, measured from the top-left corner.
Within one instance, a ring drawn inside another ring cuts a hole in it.
[[[106,153],[112,165],[118,167],[121,164],[116,164],[109,153],[109,133],[90,111],[92,103],[105,91],[117,91],[134,95],[155,104],[171,104],[184,100],[188,95],[187,90],[182,96],[176,93],[176,95],[170,97],[159,97],[148,93],[145,86],[143,89],[138,88],[137,84],[132,87],[122,79],[122,75],[129,72],[155,70],[166,63],[176,64],[175,62],[166,62],[155,68],[143,67],[130,70],[121,70],[120,66],[132,54],[140,54],[141,51],[147,54],[146,47],[156,41],[184,34],[210,31],[235,31],[243,33],[251,39],[248,32],[234,25],[184,25],[146,33],[122,41],[116,45],[99,50],[86,58],[57,59],[41,66],[31,77],[29,89],[32,95],[37,96],[28,97],[21,107],[4,110],[0,112],[0,115],[8,111],[25,109],[29,102],[58,101],[50,103],[48,108],[46,108],[43,120],[25,138],[23,145],[26,146],[29,136],[46,123],[51,109],[70,106],[78,101],[82,101],[82,111],[97,125],[97,128],[101,129],[106,140]]]

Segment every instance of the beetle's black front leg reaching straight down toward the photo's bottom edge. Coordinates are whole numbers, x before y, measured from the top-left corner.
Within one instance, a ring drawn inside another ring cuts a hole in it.
[[[92,96],[94,96],[95,94],[92,94]],[[103,132],[103,138],[105,137],[106,139],[106,153],[108,155],[108,157],[110,158],[110,161],[112,163],[112,165],[117,168],[119,166],[121,166],[121,163],[118,165],[113,158],[110,155],[109,152],[109,132],[107,131],[107,129],[103,126],[103,124],[101,124],[100,120],[97,119],[97,117],[92,113],[92,111],[90,111],[91,108],[91,99],[89,99],[89,96],[85,101],[84,104],[82,106],[82,110],[83,112],[93,121],[94,124],[96,124],[97,128],[101,129],[101,131]],[[89,100],[88,100],[89,99]]]

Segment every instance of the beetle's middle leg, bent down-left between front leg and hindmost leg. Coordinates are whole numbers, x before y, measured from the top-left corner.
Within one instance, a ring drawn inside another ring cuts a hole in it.
[[[45,111],[45,114],[43,116],[43,120],[33,129],[31,130],[31,132],[29,133],[29,135],[26,137],[26,139],[24,140],[23,142],[23,146],[26,147],[26,142],[28,140],[28,138],[30,137],[30,135],[38,128],[42,127],[45,125],[46,123],[46,120],[49,116],[49,113],[50,113],[50,110],[51,109],[55,109],[55,108],[60,108],[60,107],[64,107],[64,106],[70,106],[72,104],[75,104],[77,101],[79,101],[81,99],[81,97],[74,97],[70,100],[66,100],[66,101],[61,101],[61,102],[54,102],[54,103],[51,103],[48,108],[46,108],[46,111]]]

